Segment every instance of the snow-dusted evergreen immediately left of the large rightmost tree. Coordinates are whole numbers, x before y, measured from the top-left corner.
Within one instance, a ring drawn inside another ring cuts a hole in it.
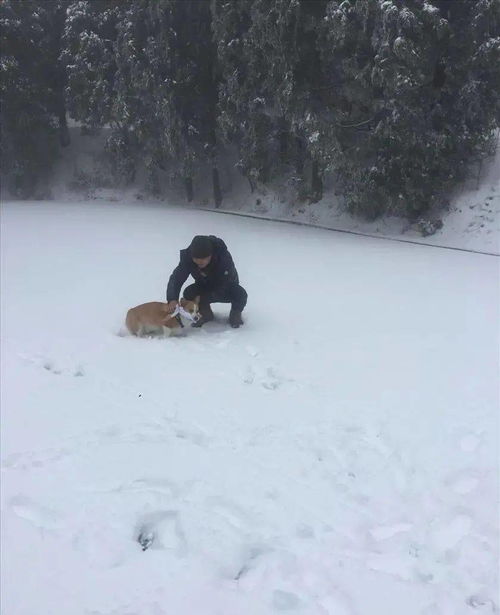
[[[315,29],[326,2],[215,2],[221,76],[220,125],[236,143],[251,185],[295,162],[300,179],[308,142],[303,118],[319,75]]]

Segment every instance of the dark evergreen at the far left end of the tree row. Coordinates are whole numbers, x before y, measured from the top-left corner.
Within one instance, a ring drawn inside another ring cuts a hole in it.
[[[65,73],[59,62],[67,2],[0,4],[2,170],[28,196],[69,143]]]

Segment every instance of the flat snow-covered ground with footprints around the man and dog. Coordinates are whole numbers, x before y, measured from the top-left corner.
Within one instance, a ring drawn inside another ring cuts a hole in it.
[[[2,615],[498,612],[498,258],[160,204],[1,224]],[[198,233],[245,326],[117,335]]]

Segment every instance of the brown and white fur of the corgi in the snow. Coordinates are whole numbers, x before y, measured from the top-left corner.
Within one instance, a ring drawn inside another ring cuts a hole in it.
[[[186,312],[196,317],[199,300],[199,297],[196,297],[194,301],[181,299],[179,303]],[[151,301],[130,308],[125,319],[127,329],[132,335],[138,337],[157,334],[168,337],[169,335],[179,334],[182,331],[181,325],[177,318],[167,313],[167,305],[167,303],[160,301]]]

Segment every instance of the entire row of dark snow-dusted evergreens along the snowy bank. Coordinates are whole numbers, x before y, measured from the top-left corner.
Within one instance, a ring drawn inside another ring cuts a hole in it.
[[[3,173],[28,195],[71,116],[111,127],[131,181],[145,162],[193,199],[221,135],[249,179],[351,211],[417,217],[481,160],[500,124],[498,0],[4,0]],[[64,96],[65,94],[65,96]],[[311,185],[304,175],[311,173]]]

